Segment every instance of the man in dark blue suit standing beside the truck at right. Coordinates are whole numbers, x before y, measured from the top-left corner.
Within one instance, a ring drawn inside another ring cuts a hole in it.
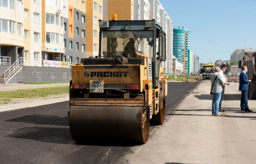
[[[248,80],[247,75],[247,67],[242,66],[242,72],[239,75],[239,91],[242,91],[241,96],[241,110],[244,110],[246,112],[252,112],[252,110],[249,110],[248,106],[248,89],[249,89],[249,83],[251,80]]]

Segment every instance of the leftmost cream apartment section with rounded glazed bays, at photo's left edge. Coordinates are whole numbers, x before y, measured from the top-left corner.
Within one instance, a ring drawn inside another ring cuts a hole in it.
[[[24,54],[24,3],[22,0],[0,1],[0,56],[14,63]]]

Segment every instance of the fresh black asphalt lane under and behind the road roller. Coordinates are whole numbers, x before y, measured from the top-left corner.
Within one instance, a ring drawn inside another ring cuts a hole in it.
[[[166,114],[171,114],[197,85],[169,82]],[[68,109],[69,102],[66,101],[1,112],[0,164],[129,163],[123,156],[133,153],[131,148],[140,145],[103,138],[78,144],[70,135]],[[155,128],[151,126],[150,130]]]

